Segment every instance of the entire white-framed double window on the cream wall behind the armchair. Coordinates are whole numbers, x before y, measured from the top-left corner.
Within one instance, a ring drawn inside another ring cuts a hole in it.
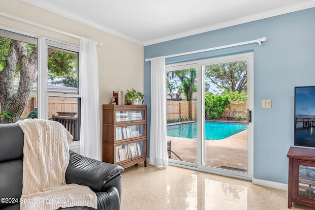
[[[79,47],[32,36],[0,30],[0,123],[56,120],[79,140]]]

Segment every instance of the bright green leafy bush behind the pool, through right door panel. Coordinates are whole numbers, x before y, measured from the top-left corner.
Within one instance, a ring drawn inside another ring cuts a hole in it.
[[[225,95],[205,95],[205,114],[207,120],[221,119],[225,111],[225,106],[231,103],[229,96]]]

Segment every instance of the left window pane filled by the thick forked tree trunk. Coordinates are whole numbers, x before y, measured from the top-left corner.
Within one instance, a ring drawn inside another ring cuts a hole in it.
[[[37,117],[37,38],[0,30],[0,123]]]

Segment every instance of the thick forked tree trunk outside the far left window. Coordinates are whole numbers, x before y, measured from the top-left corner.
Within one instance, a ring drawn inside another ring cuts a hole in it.
[[[3,69],[0,71],[0,105],[1,123],[11,123],[20,119],[20,116],[29,100],[32,91],[35,72],[37,70],[37,51],[36,47],[25,42],[9,40],[7,45],[0,46],[0,60]],[[19,88],[15,92],[13,89],[16,65],[20,73]],[[11,116],[3,117],[3,113],[10,113]]]

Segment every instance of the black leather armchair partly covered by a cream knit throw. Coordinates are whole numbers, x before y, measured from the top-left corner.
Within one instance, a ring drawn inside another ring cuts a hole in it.
[[[17,123],[0,125],[0,209],[19,210],[22,194],[24,134]],[[118,165],[84,157],[70,150],[66,183],[89,186],[97,196],[98,210],[119,210],[121,201],[121,173]],[[91,210],[73,207],[67,210]]]

